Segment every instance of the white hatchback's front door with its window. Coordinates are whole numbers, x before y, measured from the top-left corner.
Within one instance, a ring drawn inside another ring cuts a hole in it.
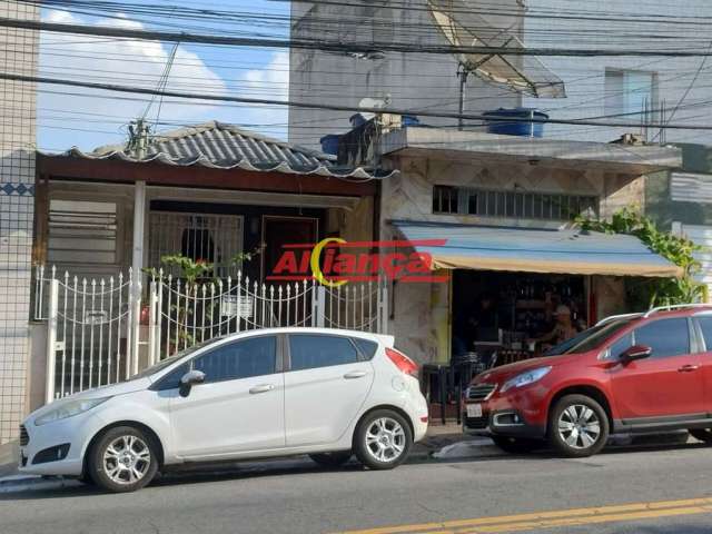
[[[176,448],[184,458],[229,457],[285,446],[284,374],[277,337],[220,345],[192,360],[206,375],[186,397],[171,398]]]

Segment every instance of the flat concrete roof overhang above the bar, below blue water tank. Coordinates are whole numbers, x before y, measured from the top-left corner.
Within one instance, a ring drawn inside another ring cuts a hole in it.
[[[379,148],[384,156],[463,162],[518,161],[572,169],[585,165],[589,169],[637,176],[682,166],[682,151],[675,147],[566,141],[426,127],[388,132]]]

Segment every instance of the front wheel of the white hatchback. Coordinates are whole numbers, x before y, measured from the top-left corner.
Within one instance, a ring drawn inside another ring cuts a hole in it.
[[[89,454],[89,475],[98,486],[115,493],[146,486],[158,471],[152,439],[132,426],[110,428]]]

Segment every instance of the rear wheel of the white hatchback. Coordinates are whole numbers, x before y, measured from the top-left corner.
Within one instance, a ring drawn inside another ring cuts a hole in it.
[[[405,418],[390,409],[377,409],[358,424],[354,452],[372,469],[392,469],[400,465],[413,445],[413,432]]]

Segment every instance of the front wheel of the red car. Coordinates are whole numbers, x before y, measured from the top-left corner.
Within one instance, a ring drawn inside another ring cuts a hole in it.
[[[551,412],[548,439],[564,456],[582,458],[594,455],[609,439],[609,417],[593,398],[566,395]]]

